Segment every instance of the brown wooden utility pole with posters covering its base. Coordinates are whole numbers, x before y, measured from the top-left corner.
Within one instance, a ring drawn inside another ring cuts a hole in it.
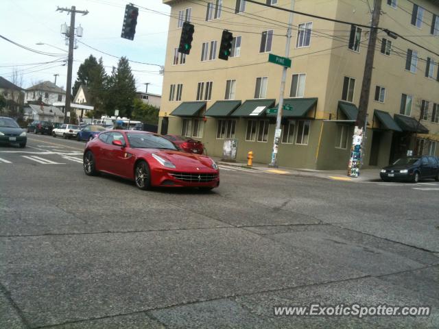
[[[368,51],[366,54],[366,64],[364,65],[363,82],[361,84],[361,94],[359,97],[358,116],[355,121],[353,142],[351,147],[351,157],[348,163],[348,176],[358,177],[361,162],[363,161],[362,145],[366,138],[367,130],[367,113],[370,96],[370,81],[372,78],[373,60],[375,57],[375,45],[377,44],[377,33],[379,24],[379,15],[381,14],[381,0],[375,0],[372,12],[372,25],[370,27],[370,36]]]

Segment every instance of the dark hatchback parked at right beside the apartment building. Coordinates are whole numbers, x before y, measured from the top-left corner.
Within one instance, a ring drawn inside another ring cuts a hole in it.
[[[439,181],[439,162],[434,156],[407,156],[381,169],[381,180],[402,180],[417,183],[424,178]]]

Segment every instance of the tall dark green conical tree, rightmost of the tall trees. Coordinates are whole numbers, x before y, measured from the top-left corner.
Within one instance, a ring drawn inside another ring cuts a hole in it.
[[[105,108],[108,115],[119,110],[120,117],[131,117],[136,97],[136,82],[131,72],[130,63],[122,57],[108,77],[108,89],[105,97]]]

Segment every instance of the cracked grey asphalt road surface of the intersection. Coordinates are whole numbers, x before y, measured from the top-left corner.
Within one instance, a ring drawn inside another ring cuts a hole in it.
[[[0,328],[439,328],[439,183],[223,167],[140,191],[82,170],[84,143],[0,146]],[[431,306],[292,317],[274,306]]]

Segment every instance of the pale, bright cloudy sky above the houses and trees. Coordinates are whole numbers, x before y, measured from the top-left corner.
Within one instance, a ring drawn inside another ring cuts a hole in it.
[[[72,86],[80,64],[91,54],[97,59],[102,57],[107,73],[111,72],[112,66],[117,66],[118,59],[112,56],[118,58],[126,56],[129,60],[137,62],[164,65],[170,7],[164,5],[161,0],[134,0],[132,2],[134,5],[143,8],[139,8],[134,40],[126,40],[120,35],[125,5],[129,2],[123,0],[1,0],[0,36],[37,51],[56,54],[63,54],[65,51],[65,59],[67,59],[68,46],[65,44],[64,35],[60,33],[60,27],[62,23],[70,24],[70,15],[67,12],[57,12],[56,9],[58,6],[71,8],[75,5],[76,10],[88,10],[88,14],[85,16],[76,14],[75,16],[75,26],[81,25],[84,32],[82,38],[78,38],[80,41],[78,49],[75,49],[73,53]],[[37,42],[43,42],[46,45],[36,45]],[[59,74],[56,84],[65,90],[67,65],[62,66],[63,59],[64,56],[55,57],[34,53],[0,38],[0,76],[11,81],[13,69],[18,70],[19,75],[23,77],[23,88],[28,88],[40,81],[54,82],[54,74]],[[160,67],[149,64],[130,63],[137,90],[145,91],[145,83],[150,83],[148,93],[161,95],[163,75],[159,74]]]

